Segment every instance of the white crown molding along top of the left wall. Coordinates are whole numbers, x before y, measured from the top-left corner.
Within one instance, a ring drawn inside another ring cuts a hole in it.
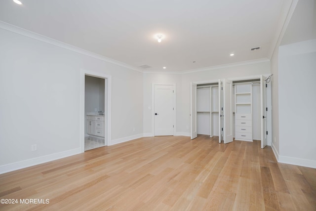
[[[55,46],[58,46],[58,47],[62,47],[62,48],[68,49],[68,50],[72,50],[74,52],[77,52],[77,53],[80,53],[80,54],[83,54],[83,55],[86,55],[86,56],[91,56],[93,58],[100,59],[102,61],[109,62],[109,63],[115,64],[115,65],[118,65],[118,66],[121,66],[121,67],[125,67],[125,68],[128,68],[128,69],[137,71],[137,72],[141,72],[141,73],[143,72],[141,69],[139,69],[137,67],[125,64],[123,62],[119,62],[117,60],[114,60],[114,59],[111,59],[111,58],[99,55],[97,53],[93,53],[93,52],[88,51],[88,50],[84,50],[82,48],[76,47],[76,46],[71,45],[71,44],[67,44],[65,42],[60,42],[60,41],[54,40],[52,38],[48,38],[46,36],[37,34],[35,32],[31,32],[31,31],[26,30],[26,29],[22,29],[20,27],[11,25],[11,24],[3,22],[3,21],[0,21],[0,28],[4,29],[4,30],[7,30],[7,31],[10,31],[10,32],[13,32],[13,33],[16,33],[16,34],[20,34],[20,35],[23,35],[23,36],[26,36],[26,37],[38,40],[38,41],[41,41],[41,42],[46,42],[46,43],[49,43],[49,44],[52,44],[52,45],[55,45]]]

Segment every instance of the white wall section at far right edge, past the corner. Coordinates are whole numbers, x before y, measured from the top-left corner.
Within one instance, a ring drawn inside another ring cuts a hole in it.
[[[279,161],[316,168],[316,39],[279,47]]]

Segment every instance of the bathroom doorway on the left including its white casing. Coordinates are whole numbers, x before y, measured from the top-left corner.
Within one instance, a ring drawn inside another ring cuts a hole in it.
[[[111,76],[81,69],[80,151],[111,145]]]

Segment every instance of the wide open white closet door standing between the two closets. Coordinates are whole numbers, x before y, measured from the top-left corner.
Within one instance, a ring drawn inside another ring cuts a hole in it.
[[[224,143],[233,141],[233,82],[224,79],[223,81],[223,107],[224,107]]]

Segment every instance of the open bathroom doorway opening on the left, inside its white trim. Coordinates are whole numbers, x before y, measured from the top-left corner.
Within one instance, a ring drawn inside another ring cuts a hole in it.
[[[105,146],[105,79],[84,79],[84,151]]]

